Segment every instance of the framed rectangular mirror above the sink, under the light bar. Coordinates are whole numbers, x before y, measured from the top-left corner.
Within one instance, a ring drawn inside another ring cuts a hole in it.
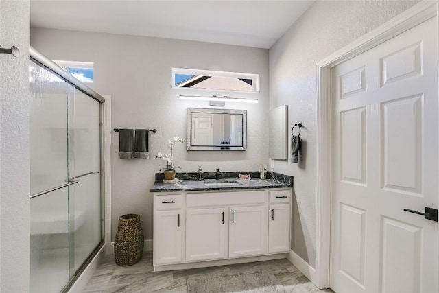
[[[187,108],[187,150],[246,150],[247,111]]]

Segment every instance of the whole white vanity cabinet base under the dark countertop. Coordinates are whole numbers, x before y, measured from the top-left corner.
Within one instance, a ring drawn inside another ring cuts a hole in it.
[[[290,189],[155,193],[154,269],[285,257],[290,197]]]

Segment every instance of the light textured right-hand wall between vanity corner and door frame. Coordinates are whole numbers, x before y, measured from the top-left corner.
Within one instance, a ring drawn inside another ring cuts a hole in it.
[[[294,176],[292,250],[311,266],[316,258],[317,75],[316,63],[416,1],[316,1],[269,51],[270,108],[288,105],[289,133],[302,122],[298,164],[275,161]]]

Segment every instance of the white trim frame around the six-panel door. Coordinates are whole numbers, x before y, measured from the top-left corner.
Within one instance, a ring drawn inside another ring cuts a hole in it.
[[[437,16],[438,9],[438,0],[422,1],[317,63],[317,227],[316,279],[313,281],[315,281],[314,283],[318,288],[329,288],[331,248],[331,68]]]

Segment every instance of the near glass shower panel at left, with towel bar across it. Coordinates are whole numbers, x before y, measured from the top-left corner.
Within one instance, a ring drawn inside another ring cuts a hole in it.
[[[67,82],[35,62],[30,71],[31,194],[41,194],[31,199],[30,288],[60,292],[69,281]]]

